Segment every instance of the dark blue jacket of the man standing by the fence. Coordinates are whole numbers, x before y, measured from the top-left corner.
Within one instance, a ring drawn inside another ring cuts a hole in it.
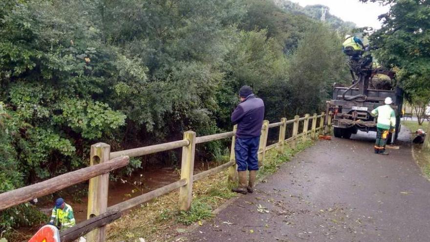
[[[237,124],[236,137],[248,139],[260,136],[263,119],[263,100],[254,94],[249,95],[232,113],[232,122]]]

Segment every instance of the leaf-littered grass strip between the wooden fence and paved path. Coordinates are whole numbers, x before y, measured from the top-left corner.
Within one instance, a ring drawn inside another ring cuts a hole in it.
[[[278,154],[276,149],[268,151],[264,166],[258,172],[258,180],[275,173],[280,165],[313,143],[311,140],[299,142],[296,150],[286,148],[284,154]],[[212,218],[213,210],[237,196],[231,192],[237,184],[228,182],[227,176],[227,171],[223,171],[194,182],[193,203],[189,212],[177,212],[177,191],[130,210],[108,225],[108,242],[139,242],[139,238],[153,242],[171,241],[185,232],[189,225],[201,224],[201,220]]]

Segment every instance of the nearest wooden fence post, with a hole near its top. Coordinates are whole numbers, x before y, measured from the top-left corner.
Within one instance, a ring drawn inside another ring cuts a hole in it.
[[[91,145],[89,165],[97,165],[109,160],[110,145],[97,143]],[[89,179],[87,219],[99,216],[106,212],[108,207],[109,173]],[[104,242],[106,240],[106,227],[96,228],[86,236],[87,241]]]

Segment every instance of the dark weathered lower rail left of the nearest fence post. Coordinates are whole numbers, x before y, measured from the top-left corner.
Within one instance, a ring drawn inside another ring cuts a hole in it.
[[[84,236],[93,229],[105,226],[119,218],[121,218],[121,212],[108,211],[89,220],[80,222],[60,233],[61,242],[72,242],[81,236]]]

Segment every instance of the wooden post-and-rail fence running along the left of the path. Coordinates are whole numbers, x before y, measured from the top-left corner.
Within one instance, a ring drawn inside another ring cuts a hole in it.
[[[320,120],[319,124],[318,119]],[[312,124],[309,129],[310,121],[312,121]],[[302,122],[302,125],[300,122]],[[285,138],[288,124],[293,124],[292,136]],[[267,146],[268,131],[270,128],[275,127],[280,127],[279,140],[277,143]],[[330,128],[331,113],[329,113],[329,115],[325,115],[325,113],[317,115],[315,113],[313,116],[306,114],[304,117],[296,115],[292,120],[282,118],[280,122],[272,124],[269,124],[269,121],[264,120],[259,141],[258,166],[261,167],[264,165],[264,155],[267,150],[277,148],[278,153],[282,154],[287,143],[290,143],[291,148],[295,149],[299,138],[302,140],[306,140],[308,137],[316,139],[318,134],[325,134],[330,131]],[[302,130],[301,133],[299,133],[299,129]],[[192,190],[194,181],[203,179],[204,177],[213,175],[224,169],[229,169],[229,180],[236,181],[236,130],[237,126],[234,126],[232,132],[211,134],[201,137],[196,137],[195,132],[193,131],[187,131],[184,132],[184,138],[182,140],[118,152],[110,152],[110,146],[108,144],[94,144],[91,146],[89,167],[56,176],[30,186],[2,193],[0,194],[0,211],[89,179],[87,220],[78,223],[72,228],[62,231],[61,241],[71,242],[80,236],[87,234],[86,238],[88,242],[104,242],[106,238],[105,226],[113,220],[120,218],[121,213],[125,210],[138,206],[153,198],[170,193],[178,188],[179,209],[189,210],[193,198]],[[195,145],[230,137],[232,137],[230,161],[213,169],[194,174]],[[177,148],[182,148],[180,180],[108,207],[109,172],[127,166],[129,164],[129,157],[154,154]]]

